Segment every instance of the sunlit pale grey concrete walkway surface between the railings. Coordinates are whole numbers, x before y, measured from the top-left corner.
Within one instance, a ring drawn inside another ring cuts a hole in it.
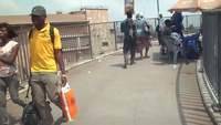
[[[159,48],[151,48],[150,59],[138,60],[127,70],[123,62],[118,53],[69,72],[80,114],[75,122],[62,125],[181,125],[178,69],[159,55]],[[19,119],[21,108],[8,105]],[[57,119],[61,112],[53,107],[53,115]]]

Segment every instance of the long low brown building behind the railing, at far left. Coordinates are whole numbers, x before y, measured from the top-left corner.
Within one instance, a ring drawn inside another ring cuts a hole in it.
[[[91,38],[88,21],[83,14],[48,14],[48,20],[60,30],[65,65],[91,59]],[[0,15],[0,22],[12,24],[19,34],[18,72],[20,81],[29,74],[29,31],[32,28],[30,15]],[[23,82],[22,82],[23,83]]]

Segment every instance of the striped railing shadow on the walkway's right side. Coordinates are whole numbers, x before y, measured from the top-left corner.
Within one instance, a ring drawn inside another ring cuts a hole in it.
[[[202,103],[194,70],[196,63],[181,64],[177,75],[177,102],[182,125],[213,125]]]

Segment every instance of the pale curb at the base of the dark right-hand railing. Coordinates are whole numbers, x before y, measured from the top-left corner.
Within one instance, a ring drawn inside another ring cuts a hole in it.
[[[213,124],[221,125],[221,115],[219,113],[213,112],[213,110],[211,107],[211,105],[213,104],[213,100],[211,97],[211,93],[209,92],[208,83],[204,79],[204,72],[202,69],[201,61],[202,60],[198,60],[198,62],[197,62],[196,73],[197,73],[197,82],[199,84],[200,93],[202,96],[202,102],[203,102],[203,105],[204,105],[208,114],[210,115]]]

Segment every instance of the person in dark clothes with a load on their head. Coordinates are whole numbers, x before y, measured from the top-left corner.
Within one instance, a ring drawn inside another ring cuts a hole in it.
[[[128,64],[128,52],[130,52],[130,64],[135,63],[135,49],[136,49],[136,24],[133,20],[133,12],[128,11],[127,19],[122,22],[120,31],[124,33],[124,67],[127,69]]]

